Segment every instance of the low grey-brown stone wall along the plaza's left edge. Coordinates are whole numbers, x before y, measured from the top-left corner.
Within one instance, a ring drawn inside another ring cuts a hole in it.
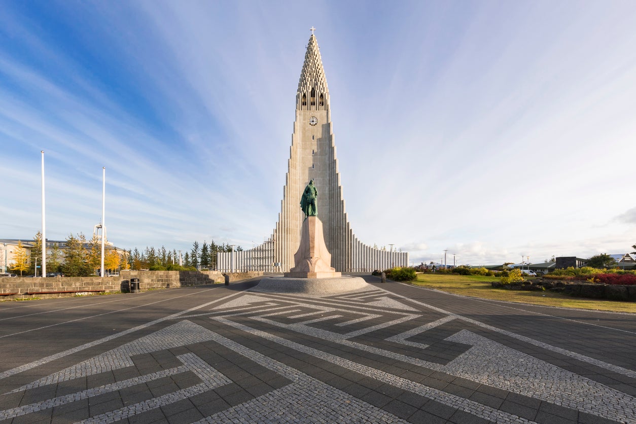
[[[6,299],[28,299],[30,297],[67,297],[78,293],[90,294],[90,291],[118,292],[122,284],[127,286],[130,278],[139,278],[141,291],[182,287],[184,285],[202,285],[224,283],[225,275],[230,282],[263,275],[260,271],[244,273],[221,273],[220,271],[121,271],[119,277],[0,277],[0,301]],[[71,292],[42,294],[41,292]],[[31,293],[31,294],[27,294]]]

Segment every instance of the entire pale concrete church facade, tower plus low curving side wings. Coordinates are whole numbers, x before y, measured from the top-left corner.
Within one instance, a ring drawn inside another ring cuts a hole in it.
[[[336,271],[364,272],[408,266],[408,253],[364,245],[350,228],[333,140],[329,89],[313,31],[312,28],[296,91],[296,120],[278,222],[272,236],[262,245],[243,252],[218,254],[219,270],[287,272],[293,268],[305,219],[300,198],[311,179],[318,190],[317,216],[322,221],[324,241]]]

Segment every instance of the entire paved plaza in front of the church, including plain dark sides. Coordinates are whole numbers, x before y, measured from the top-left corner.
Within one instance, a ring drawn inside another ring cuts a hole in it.
[[[0,303],[0,424],[636,423],[636,317],[364,276]]]

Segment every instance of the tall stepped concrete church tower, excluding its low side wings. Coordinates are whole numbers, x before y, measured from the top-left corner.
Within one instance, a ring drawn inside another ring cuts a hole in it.
[[[300,228],[305,219],[300,209],[300,198],[310,179],[314,179],[318,189],[317,215],[322,221],[324,241],[331,253],[331,266],[339,271],[349,268],[346,245],[342,243],[347,233],[347,215],[333,144],[329,89],[314,34],[309,38],[298,81],[296,120],[287,167],[279,222],[275,229],[279,242],[277,256],[282,259],[284,268],[294,266],[294,252],[298,249]]]

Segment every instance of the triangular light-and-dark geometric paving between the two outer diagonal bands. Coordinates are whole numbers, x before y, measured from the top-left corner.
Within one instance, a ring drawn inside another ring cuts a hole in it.
[[[47,372],[2,391],[0,423],[636,423],[632,369],[395,291],[204,302],[5,371]]]

